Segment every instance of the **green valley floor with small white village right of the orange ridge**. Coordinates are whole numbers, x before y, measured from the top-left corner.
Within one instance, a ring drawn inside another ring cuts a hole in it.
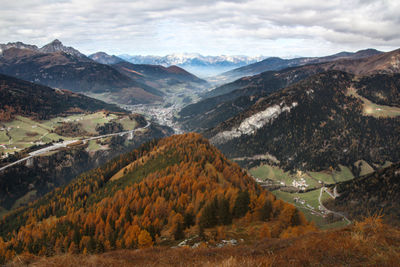
[[[362,163],[360,175],[365,175],[374,169],[365,161]],[[386,162],[382,167],[391,163]],[[338,182],[354,178],[349,167],[340,165],[340,170],[325,170],[320,172],[285,172],[277,166],[268,164],[253,167],[250,174],[279,199],[291,203],[304,213],[307,220],[313,221],[321,229],[338,228],[350,222],[343,214],[327,210],[323,202],[335,198],[333,190]],[[330,188],[326,188],[329,185]],[[322,205],[321,205],[322,204]]]

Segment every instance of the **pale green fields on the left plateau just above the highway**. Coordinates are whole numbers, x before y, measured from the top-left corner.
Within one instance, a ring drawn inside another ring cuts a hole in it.
[[[121,116],[117,114],[107,114],[96,112],[92,114],[78,114],[68,117],[57,117],[48,121],[34,121],[29,118],[16,116],[11,122],[0,124],[0,153],[13,153],[33,145],[46,144],[53,141],[74,140],[81,137],[66,137],[52,132],[60,123],[79,123],[81,129],[87,132],[87,135],[96,136],[97,125],[115,121],[121,123],[124,130],[131,130],[137,126],[135,120],[131,120],[128,115]],[[91,144],[90,149],[101,149],[97,144]]]

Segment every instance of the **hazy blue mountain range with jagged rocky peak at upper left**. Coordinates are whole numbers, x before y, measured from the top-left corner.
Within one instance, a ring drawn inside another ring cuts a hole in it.
[[[164,93],[147,84],[165,89],[176,83],[190,82],[191,87],[205,83],[179,67],[130,65],[126,68],[116,65],[114,68],[98,63],[58,40],[42,48],[20,42],[1,45],[0,73],[74,92],[103,98],[106,95],[105,99],[123,104],[161,101]],[[160,85],[154,80],[164,83]]]

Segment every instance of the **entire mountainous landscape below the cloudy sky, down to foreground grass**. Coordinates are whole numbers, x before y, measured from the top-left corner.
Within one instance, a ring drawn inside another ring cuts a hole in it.
[[[400,49],[262,59],[1,44],[0,264],[397,266]]]

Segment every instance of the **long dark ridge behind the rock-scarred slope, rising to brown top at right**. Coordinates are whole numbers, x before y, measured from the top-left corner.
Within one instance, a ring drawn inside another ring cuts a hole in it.
[[[183,123],[188,130],[202,131],[242,112],[260,97],[311,75],[329,70],[341,70],[357,75],[399,73],[399,60],[400,50],[395,50],[368,58],[336,60],[244,77],[217,87],[206,93],[205,99],[186,106],[179,112],[178,121]]]

